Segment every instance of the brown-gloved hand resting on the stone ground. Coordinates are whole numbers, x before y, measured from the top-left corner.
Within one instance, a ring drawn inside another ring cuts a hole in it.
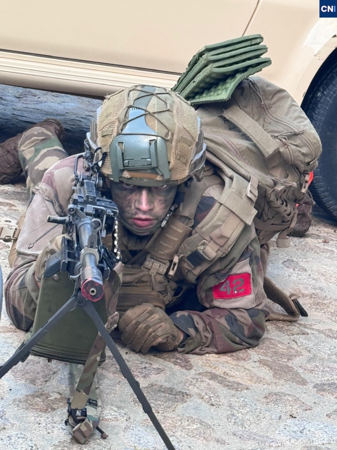
[[[183,332],[170,317],[151,303],[128,309],[119,320],[122,341],[134,351],[146,353],[151,347],[170,351],[178,347]]]

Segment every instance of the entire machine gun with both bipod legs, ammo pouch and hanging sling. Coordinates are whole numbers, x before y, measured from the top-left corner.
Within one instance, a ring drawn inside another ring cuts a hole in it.
[[[83,171],[80,174],[77,173],[78,160],[80,157],[83,157],[84,159],[88,171],[87,174],[83,174]],[[85,389],[87,392],[90,391],[98,366],[99,357],[97,357],[97,348],[100,349],[100,355],[105,343],[118,363],[122,374],[127,379],[140,401],[144,412],[148,414],[150,420],[160,434],[166,447],[169,450],[174,450],[172,442],[152,411],[151,405],[141,390],[138,381],[134,378],[109,334],[111,329],[116,326],[115,318],[117,313],[110,315],[107,324],[104,325],[100,314],[94,306],[94,304],[102,305],[102,302],[104,301],[104,281],[108,280],[110,271],[120,259],[117,243],[117,206],[111,199],[102,195],[98,189],[102,185],[102,180],[101,175],[99,174],[98,165],[92,163],[91,153],[89,154],[87,151],[86,153],[77,155],[74,171],[76,184],[73,187],[74,193],[67,208],[68,215],[66,217],[48,216],[47,219],[49,222],[62,224],[65,233],[62,236],[60,251],[55,251],[54,254],[50,255],[46,261],[44,270],[44,279],[52,279],[56,276],[57,280],[59,280],[60,276],[67,274],[75,284],[73,293],[72,295],[70,294],[70,298],[65,303],[63,300],[62,305],[51,315],[51,317],[50,315],[48,316],[46,322],[43,321],[42,316],[42,325],[36,329],[38,308],[43,301],[38,302],[32,329],[33,333],[26,342],[22,343],[4,365],[0,366],[0,378],[19,361],[23,362],[30,353],[83,364],[84,361],[82,360],[76,361],[67,357],[62,358],[62,355],[56,354],[55,356],[54,354],[46,353],[44,350],[42,352],[38,350],[40,341],[43,342],[43,338],[54,326],[57,327],[57,324],[60,325],[58,322],[61,319],[67,318],[67,313],[72,313],[72,311],[80,309],[80,312],[84,311],[92,319],[95,325],[96,334],[98,331],[98,335],[93,345],[91,340],[92,348],[87,356],[77,386],[80,384],[83,386],[83,380],[86,380],[85,382],[87,382],[88,372],[91,371],[92,378],[89,383],[90,385],[86,385]],[[109,233],[112,233],[114,238],[112,251],[102,242],[102,238]],[[39,298],[45,298],[45,296],[41,296],[42,290],[43,283],[41,283]],[[53,295],[52,291],[46,293],[49,293],[49,297]],[[103,309],[105,309],[105,304]],[[52,334],[52,332],[49,334]],[[80,337],[83,335],[85,335],[85,330],[82,330],[79,334]],[[97,365],[96,368],[92,370],[92,362],[95,360],[97,361]],[[88,370],[86,370],[87,368]],[[94,428],[101,433],[102,437],[106,437],[105,433],[97,426],[98,421],[95,423],[92,417],[87,414],[86,400],[88,399],[88,394],[83,395],[82,390],[78,395],[77,391],[78,389],[76,388],[71,401],[68,399],[69,415],[66,423],[69,424],[69,422],[71,422],[72,424],[71,434],[81,443],[83,443],[93,432]],[[90,431],[88,431],[89,428]]]

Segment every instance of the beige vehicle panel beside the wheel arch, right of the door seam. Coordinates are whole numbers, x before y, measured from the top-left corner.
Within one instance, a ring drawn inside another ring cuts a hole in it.
[[[316,0],[262,1],[246,34],[257,32],[272,59],[263,76],[301,104],[317,70],[337,47],[337,18],[320,18]]]

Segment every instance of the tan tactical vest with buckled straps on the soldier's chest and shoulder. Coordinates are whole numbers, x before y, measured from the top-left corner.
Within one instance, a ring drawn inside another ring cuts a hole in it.
[[[195,224],[198,204],[211,186],[219,195]],[[203,179],[184,187],[184,200],[164,227],[147,238],[126,232],[120,239],[124,274],[117,309],[125,311],[143,302],[165,309],[179,302],[186,289],[195,286],[198,275],[207,269],[211,273],[211,266],[228,254],[245,225],[251,225],[256,199],[251,190],[252,184],[239,175],[220,177],[207,164]],[[237,257],[249,243],[250,232],[244,235]]]

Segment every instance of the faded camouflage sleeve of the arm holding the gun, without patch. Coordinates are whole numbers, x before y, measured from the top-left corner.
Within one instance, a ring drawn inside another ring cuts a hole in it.
[[[35,261],[50,240],[62,232],[62,225],[47,222],[47,216],[66,215],[74,183],[73,167],[74,157],[70,156],[47,170],[27,208],[16,258],[4,287],[7,314],[19,329],[27,330],[32,325],[39,293]]]

